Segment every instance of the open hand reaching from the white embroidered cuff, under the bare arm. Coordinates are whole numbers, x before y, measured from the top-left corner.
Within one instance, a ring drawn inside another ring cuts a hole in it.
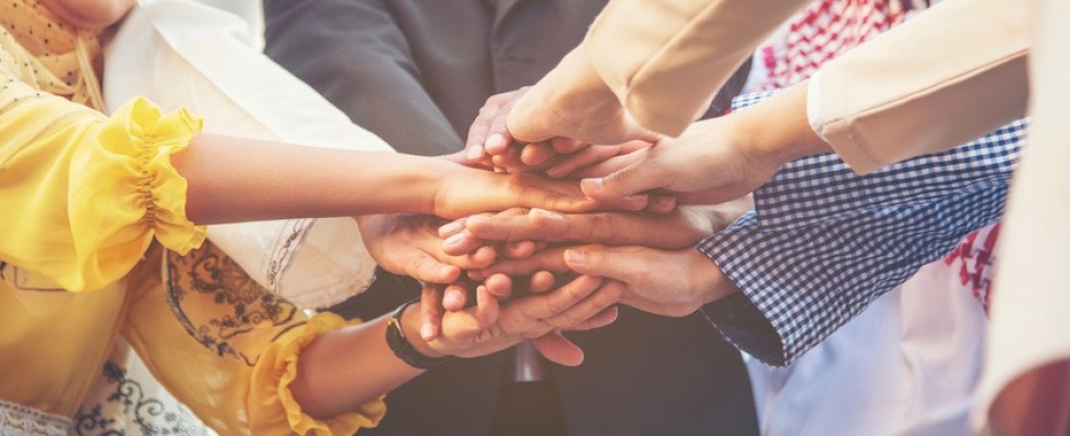
[[[441,218],[426,215],[370,215],[357,217],[368,253],[383,269],[430,283],[452,283],[462,269],[483,268],[495,261],[492,247],[462,255],[442,250],[438,228]]]

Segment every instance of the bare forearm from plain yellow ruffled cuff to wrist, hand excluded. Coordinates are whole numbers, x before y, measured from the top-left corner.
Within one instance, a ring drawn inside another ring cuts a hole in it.
[[[197,136],[173,164],[199,225],[387,211],[432,213],[432,159]],[[389,187],[389,189],[387,189]]]

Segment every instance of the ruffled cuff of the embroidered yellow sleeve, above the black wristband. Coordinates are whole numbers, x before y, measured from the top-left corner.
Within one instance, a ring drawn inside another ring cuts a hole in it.
[[[260,355],[253,373],[254,383],[251,385],[250,398],[259,399],[261,404],[249,408],[250,421],[255,424],[253,434],[261,434],[257,431],[259,425],[264,425],[264,431],[274,427],[272,421],[281,416],[266,414],[278,409],[286,411],[286,423],[299,435],[350,435],[358,428],[379,424],[387,413],[387,404],[381,398],[364,403],[353,412],[324,421],[305,414],[289,391],[289,385],[297,377],[297,360],[301,349],[318,336],[348,324],[350,323],[332,313],[316,314],[304,326],[284,334]],[[265,415],[258,416],[258,410],[263,410]]]

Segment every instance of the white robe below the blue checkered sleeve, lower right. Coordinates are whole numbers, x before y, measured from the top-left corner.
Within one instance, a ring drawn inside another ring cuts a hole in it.
[[[787,367],[747,362],[763,435],[966,435],[984,308],[935,262]]]

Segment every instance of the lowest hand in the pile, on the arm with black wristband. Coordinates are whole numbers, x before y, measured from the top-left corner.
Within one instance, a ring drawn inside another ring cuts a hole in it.
[[[575,366],[583,362],[583,352],[558,331],[613,323],[617,317],[613,305],[620,291],[619,284],[581,276],[556,290],[515,298],[502,305],[480,286],[476,288],[476,305],[442,313],[440,334],[426,344],[441,354],[474,358],[534,339],[547,360]],[[425,289],[428,293],[433,290]]]

